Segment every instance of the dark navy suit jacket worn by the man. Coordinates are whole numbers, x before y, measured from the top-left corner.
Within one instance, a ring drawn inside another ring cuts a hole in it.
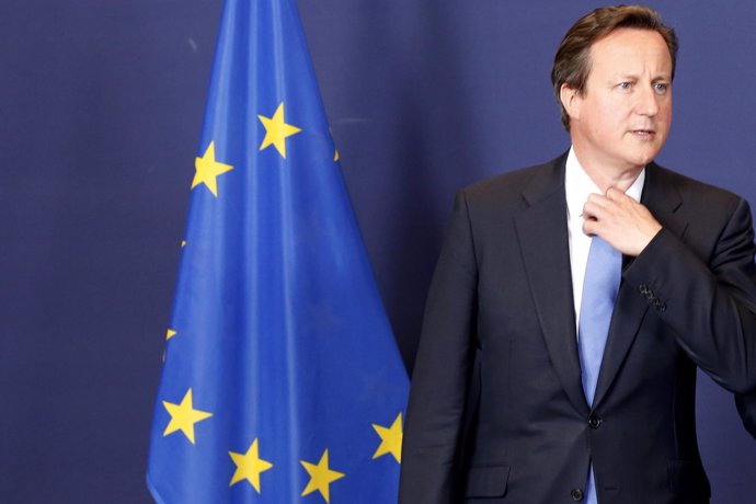
[[[642,203],[664,229],[626,260],[588,409],[565,159],[457,195],[412,377],[400,503],[573,502],[591,461],[602,504],[709,502],[696,368],[737,393],[756,386],[748,206],[648,167]]]

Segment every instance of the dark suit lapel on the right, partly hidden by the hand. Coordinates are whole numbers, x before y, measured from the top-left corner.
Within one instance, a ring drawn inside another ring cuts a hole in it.
[[[683,198],[666,171],[655,163],[649,164],[645,170],[641,203],[667,231],[678,238],[683,237],[687,222],[675,215],[683,204]],[[596,383],[594,408],[600,403],[617,377],[617,371],[635,341],[648,310],[649,303],[638,294],[638,286],[622,282],[611,314],[609,335]]]

